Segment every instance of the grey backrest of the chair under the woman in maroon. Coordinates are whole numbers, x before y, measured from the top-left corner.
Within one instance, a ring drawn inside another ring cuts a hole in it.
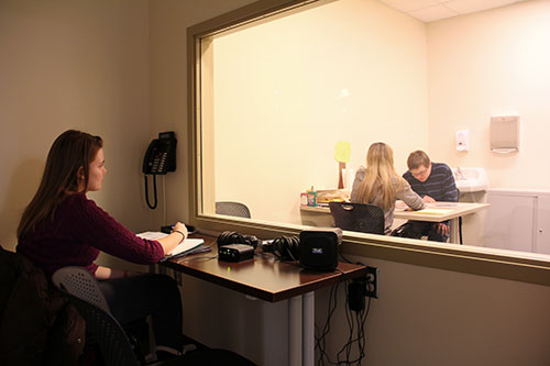
[[[86,268],[74,266],[59,268],[52,275],[52,281],[62,290],[111,313],[97,279]]]

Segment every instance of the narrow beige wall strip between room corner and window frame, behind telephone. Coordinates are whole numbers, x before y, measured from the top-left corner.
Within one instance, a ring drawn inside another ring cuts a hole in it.
[[[178,168],[166,176],[167,222],[188,217],[186,30],[250,2],[205,0],[197,5],[182,0],[150,1],[151,130],[175,131],[178,138]],[[154,214],[153,226],[163,222],[161,210]]]

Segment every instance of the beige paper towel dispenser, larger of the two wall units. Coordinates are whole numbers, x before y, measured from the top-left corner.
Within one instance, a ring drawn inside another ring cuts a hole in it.
[[[519,151],[519,115],[491,118],[491,151],[499,154]]]

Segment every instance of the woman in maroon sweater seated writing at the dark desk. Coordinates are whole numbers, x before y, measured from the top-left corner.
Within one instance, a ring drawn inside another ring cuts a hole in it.
[[[80,266],[96,276],[110,310],[125,324],[153,315],[156,343],[180,348],[182,300],[168,276],[98,266],[100,252],[136,264],[155,264],[187,236],[177,222],[172,234],[143,240],[117,222],[88,191],[101,189],[105,167],[99,136],[68,130],[53,143],[38,190],[18,228],[16,252],[47,276],[65,266]]]

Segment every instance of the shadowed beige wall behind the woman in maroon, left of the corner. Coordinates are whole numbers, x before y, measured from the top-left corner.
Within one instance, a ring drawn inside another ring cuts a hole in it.
[[[148,2],[0,1],[0,243],[14,248],[47,151],[67,129],[105,140],[98,204],[148,228],[141,160],[150,140]]]

